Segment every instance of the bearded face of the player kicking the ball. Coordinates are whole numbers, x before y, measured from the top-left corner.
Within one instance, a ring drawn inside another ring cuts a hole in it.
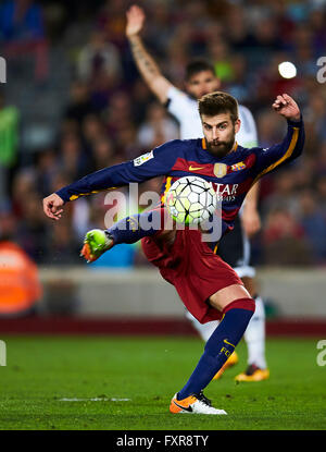
[[[225,157],[234,147],[240,120],[233,122],[230,113],[222,113],[215,117],[203,114],[201,122],[209,152],[215,157]]]

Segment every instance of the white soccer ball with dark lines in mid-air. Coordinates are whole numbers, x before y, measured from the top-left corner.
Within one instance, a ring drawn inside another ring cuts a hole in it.
[[[211,182],[197,175],[186,175],[172,184],[165,205],[177,223],[200,224],[214,213],[217,198]]]

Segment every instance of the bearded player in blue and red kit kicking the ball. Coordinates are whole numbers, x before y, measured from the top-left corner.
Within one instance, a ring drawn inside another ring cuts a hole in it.
[[[79,196],[143,182],[164,175],[162,193],[174,180],[198,174],[212,182],[222,200],[222,231],[233,229],[235,218],[250,187],[262,175],[297,158],[304,144],[304,129],[296,101],[277,96],[274,110],[288,121],[281,143],[268,148],[243,148],[235,141],[240,129],[238,105],[226,93],[212,93],[199,100],[204,138],[175,139],[151,152],[88,174],[43,199],[43,211],[59,220],[63,206]],[[229,196],[229,193],[233,196]],[[172,413],[226,414],[203,395],[203,389],[222,368],[243,335],[254,313],[254,300],[237,273],[201,240],[201,232],[186,228],[145,231],[141,217],[165,215],[164,206],[121,220],[108,231],[89,231],[82,249],[91,261],[117,243],[141,244],[149,261],[172,283],[187,309],[201,322],[222,319],[204,346],[190,378],[171,401]],[[151,221],[149,221],[151,223]],[[162,224],[162,223],[161,223]],[[217,244],[218,245],[218,244]]]

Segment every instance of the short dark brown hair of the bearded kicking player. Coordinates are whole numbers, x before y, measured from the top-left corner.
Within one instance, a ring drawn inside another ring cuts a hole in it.
[[[223,91],[214,91],[202,96],[198,100],[199,114],[215,117],[221,113],[230,113],[233,122],[239,118],[238,102],[231,95]]]

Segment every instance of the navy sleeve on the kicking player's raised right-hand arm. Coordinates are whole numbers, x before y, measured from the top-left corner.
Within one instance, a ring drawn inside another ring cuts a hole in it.
[[[288,121],[288,131],[281,143],[267,148],[253,149],[256,156],[255,180],[294,160],[302,154],[303,146],[304,125],[302,119],[300,122]]]

